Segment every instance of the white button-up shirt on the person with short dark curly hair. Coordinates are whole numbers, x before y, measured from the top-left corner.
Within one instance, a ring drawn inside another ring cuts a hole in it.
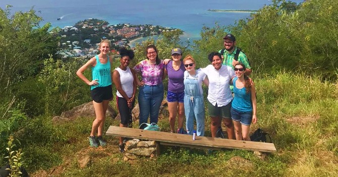
[[[233,68],[222,65],[216,70],[212,65],[201,68],[209,78],[208,100],[217,107],[226,106],[232,100],[233,96],[230,90],[230,80],[236,76]]]

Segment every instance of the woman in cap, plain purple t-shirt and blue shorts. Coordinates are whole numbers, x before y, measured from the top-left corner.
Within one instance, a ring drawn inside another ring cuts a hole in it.
[[[180,48],[172,50],[172,61],[164,68],[164,74],[168,75],[168,92],[166,100],[168,101],[170,131],[175,132],[175,121],[177,112],[179,113],[177,132],[184,132],[184,65],[181,61],[182,51]]]

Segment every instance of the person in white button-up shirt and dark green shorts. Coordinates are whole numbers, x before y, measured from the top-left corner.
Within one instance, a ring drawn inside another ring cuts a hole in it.
[[[208,59],[211,64],[202,68],[202,71],[209,78],[207,104],[211,119],[211,137],[216,137],[217,129],[220,127],[222,119],[224,119],[228,138],[234,139],[234,125],[230,113],[233,100],[230,81],[236,74],[231,67],[222,65],[221,55],[218,52],[210,53]]]

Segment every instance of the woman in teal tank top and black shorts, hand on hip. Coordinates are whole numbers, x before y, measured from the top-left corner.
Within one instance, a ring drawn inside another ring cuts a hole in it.
[[[102,138],[102,129],[108,103],[112,100],[110,75],[110,63],[112,63],[112,60],[108,55],[110,52],[110,40],[102,40],[99,45],[99,51],[100,54],[91,58],[76,72],[80,79],[90,85],[90,95],[93,100],[93,106],[96,114],[96,119],[93,121],[89,136],[89,144],[91,147],[106,145],[106,142]],[[92,69],[92,81],[89,81],[83,75],[83,72],[89,67]],[[97,137],[95,137],[96,133]]]

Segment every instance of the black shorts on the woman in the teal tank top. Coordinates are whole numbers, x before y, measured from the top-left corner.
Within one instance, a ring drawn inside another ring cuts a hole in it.
[[[103,100],[110,100],[112,98],[111,85],[96,87],[90,91],[90,97],[96,103],[102,103]]]

